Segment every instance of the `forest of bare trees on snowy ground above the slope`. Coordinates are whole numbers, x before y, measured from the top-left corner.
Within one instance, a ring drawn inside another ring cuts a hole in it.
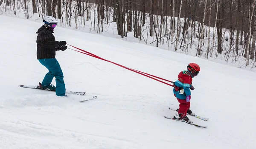
[[[226,62],[246,59],[255,63],[255,0],[0,0],[0,6],[16,15],[23,11],[39,17],[52,15],[61,23],[79,29],[90,22],[91,29],[104,31],[115,23],[118,34],[155,46],[167,44],[174,51],[196,47],[197,56]],[[215,28],[215,29],[214,29]]]

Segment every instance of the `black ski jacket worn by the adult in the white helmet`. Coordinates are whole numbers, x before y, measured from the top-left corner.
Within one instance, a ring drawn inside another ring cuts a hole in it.
[[[58,41],[55,41],[53,31],[49,30],[46,26],[41,26],[36,34],[38,34],[37,43],[37,59],[49,59],[55,58],[55,45],[59,45]]]

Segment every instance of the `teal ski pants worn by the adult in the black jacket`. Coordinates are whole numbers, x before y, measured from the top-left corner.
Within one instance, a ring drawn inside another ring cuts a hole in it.
[[[61,66],[59,65],[57,59],[55,58],[50,58],[50,59],[39,59],[39,62],[47,67],[49,70],[49,74],[47,73],[45,78],[46,80],[49,81],[49,76],[53,74],[56,80],[56,95],[57,96],[65,96],[66,93],[66,88],[65,88],[65,83],[64,83],[64,76],[61,70]],[[47,81],[46,81],[47,82]]]

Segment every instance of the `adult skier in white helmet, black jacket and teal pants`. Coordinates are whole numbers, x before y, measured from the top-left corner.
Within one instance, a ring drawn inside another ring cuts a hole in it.
[[[58,42],[52,33],[54,28],[58,25],[58,21],[52,16],[46,16],[43,19],[44,25],[38,29],[37,36],[37,59],[47,67],[49,72],[45,75],[43,82],[39,82],[39,87],[42,89],[53,90],[57,96],[66,96],[66,88],[64,83],[64,76],[57,59],[55,58],[55,51],[65,51],[67,49],[67,42]],[[52,85],[52,79],[55,77],[56,87]]]

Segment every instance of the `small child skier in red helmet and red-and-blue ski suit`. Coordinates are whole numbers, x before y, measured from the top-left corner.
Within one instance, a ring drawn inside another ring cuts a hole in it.
[[[187,66],[187,70],[183,70],[179,73],[177,81],[174,83],[173,93],[180,103],[178,115],[180,120],[189,121],[186,113],[195,115],[190,108],[191,90],[195,88],[192,86],[192,78],[198,75],[200,71],[199,65],[190,63]]]

